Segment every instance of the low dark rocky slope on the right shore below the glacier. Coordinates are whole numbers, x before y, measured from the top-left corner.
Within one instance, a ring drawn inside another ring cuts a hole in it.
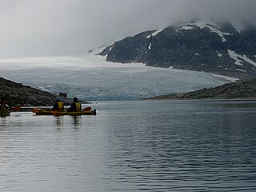
[[[150,99],[256,99],[256,78],[230,82],[210,89],[195,90],[186,94],[166,94]]]

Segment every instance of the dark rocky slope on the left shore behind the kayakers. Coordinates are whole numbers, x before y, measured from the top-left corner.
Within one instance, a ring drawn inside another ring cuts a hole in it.
[[[58,96],[0,78],[0,97],[6,102],[10,102],[11,106],[51,106]],[[72,102],[70,98],[62,99],[66,105],[70,105]]]

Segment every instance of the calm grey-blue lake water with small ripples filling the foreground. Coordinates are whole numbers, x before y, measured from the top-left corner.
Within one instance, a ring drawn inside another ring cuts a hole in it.
[[[256,102],[98,102],[0,118],[0,191],[256,191]]]

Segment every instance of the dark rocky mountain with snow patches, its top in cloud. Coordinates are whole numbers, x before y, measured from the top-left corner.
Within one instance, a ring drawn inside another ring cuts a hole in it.
[[[238,32],[230,23],[177,24],[124,38],[100,53],[110,62],[256,77],[256,28]]]

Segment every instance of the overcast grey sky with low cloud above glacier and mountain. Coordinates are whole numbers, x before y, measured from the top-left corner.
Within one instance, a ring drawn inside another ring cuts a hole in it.
[[[0,0],[0,58],[72,56],[193,18],[256,25],[256,0]]]

